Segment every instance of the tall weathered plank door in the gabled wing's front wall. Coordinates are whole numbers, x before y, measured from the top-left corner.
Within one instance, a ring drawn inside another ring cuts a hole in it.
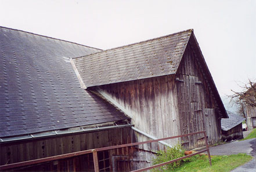
[[[181,134],[194,133],[204,130],[203,92],[197,76],[179,75],[176,79],[179,119]],[[187,149],[200,147],[203,143],[200,134],[182,138]]]

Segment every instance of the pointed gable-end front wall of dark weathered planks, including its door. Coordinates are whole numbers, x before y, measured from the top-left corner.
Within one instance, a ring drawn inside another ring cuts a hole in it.
[[[221,118],[199,59],[189,43],[176,73],[180,130],[181,134],[206,130],[208,141],[214,144],[221,139]],[[192,149],[204,144],[202,137],[186,137],[182,142]]]

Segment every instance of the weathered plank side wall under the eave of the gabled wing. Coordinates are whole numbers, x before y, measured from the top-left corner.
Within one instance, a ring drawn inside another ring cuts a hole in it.
[[[158,76],[103,85],[100,89],[131,112],[136,128],[157,138],[170,137],[179,134],[174,78],[174,75]],[[148,138],[138,137],[138,141],[145,140]],[[174,145],[177,140],[166,142]]]

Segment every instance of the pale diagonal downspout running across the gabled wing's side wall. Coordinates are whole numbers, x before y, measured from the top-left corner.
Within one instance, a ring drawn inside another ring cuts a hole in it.
[[[132,114],[131,112],[127,111],[127,109],[125,109],[124,107],[122,107],[120,104],[118,104],[113,98],[111,98],[109,95],[107,95],[102,89],[100,89],[99,87],[96,88],[97,92],[102,95],[104,98],[106,98],[106,100],[110,101],[111,103],[113,103],[117,108],[119,108],[122,112],[124,112],[126,115],[128,115],[130,118],[132,118]],[[154,136],[151,136],[150,134],[147,134],[145,133],[144,131],[142,130],[139,130],[135,127],[131,127],[132,130],[135,130],[137,131],[138,133],[140,134],[143,134],[144,136],[148,137],[148,138],[151,138],[153,140],[157,140],[158,138],[154,137]],[[167,146],[167,147],[170,147],[172,148],[172,145],[168,144],[167,142],[164,142],[164,141],[158,141],[159,143]]]

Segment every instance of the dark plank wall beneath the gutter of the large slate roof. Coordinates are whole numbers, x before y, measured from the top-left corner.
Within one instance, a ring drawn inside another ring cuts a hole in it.
[[[84,151],[93,148],[128,144],[136,142],[134,134],[135,133],[131,127],[124,127],[121,129],[72,134],[62,137],[56,136],[30,141],[9,142],[0,145],[1,165],[63,155],[65,153]],[[74,171],[74,169],[76,171],[94,171],[92,155],[90,154],[13,170],[63,171],[65,168],[71,167],[73,170],[70,171]],[[99,160],[102,159],[100,162],[104,161],[104,163],[99,162],[100,167],[105,167],[106,170],[109,167],[111,171],[136,170],[138,167],[146,167],[147,164],[149,164],[145,159],[145,151],[141,151],[138,147],[118,148],[107,152],[99,152],[98,158]]]

